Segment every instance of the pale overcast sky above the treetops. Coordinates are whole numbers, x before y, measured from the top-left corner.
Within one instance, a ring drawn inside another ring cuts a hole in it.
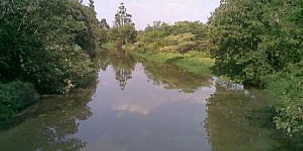
[[[84,0],[86,2],[88,0]],[[95,0],[98,18],[105,18],[112,26],[114,15],[122,2],[133,16],[136,28],[143,30],[147,24],[152,25],[157,20],[170,24],[184,20],[206,22],[210,12],[219,6],[220,0]]]

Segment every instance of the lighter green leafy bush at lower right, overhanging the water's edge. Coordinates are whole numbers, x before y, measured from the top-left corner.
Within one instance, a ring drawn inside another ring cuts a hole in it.
[[[269,75],[265,81],[278,103],[276,127],[293,136],[303,132],[303,62],[290,66],[290,72]]]

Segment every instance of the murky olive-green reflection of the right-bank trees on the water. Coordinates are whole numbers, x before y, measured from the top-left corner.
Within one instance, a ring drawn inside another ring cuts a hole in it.
[[[208,100],[206,129],[214,150],[287,150],[283,135],[271,125],[273,110],[266,101],[243,92],[218,88]]]

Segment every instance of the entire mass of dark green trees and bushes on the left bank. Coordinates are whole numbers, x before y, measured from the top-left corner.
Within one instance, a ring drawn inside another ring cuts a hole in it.
[[[108,25],[93,1],[0,1],[1,121],[36,101],[39,93],[67,93],[93,71]]]

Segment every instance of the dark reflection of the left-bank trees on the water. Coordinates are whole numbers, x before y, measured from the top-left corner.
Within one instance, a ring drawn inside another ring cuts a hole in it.
[[[81,150],[86,146],[76,136],[78,120],[92,116],[87,103],[96,90],[96,77],[90,86],[69,96],[44,98],[22,115],[20,123],[0,131],[1,150]],[[19,144],[19,145],[16,145]]]

